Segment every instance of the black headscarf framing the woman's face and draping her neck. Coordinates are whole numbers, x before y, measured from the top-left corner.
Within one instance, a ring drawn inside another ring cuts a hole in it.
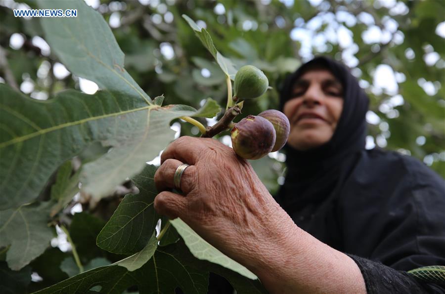
[[[327,143],[307,151],[298,151],[286,145],[287,176],[278,195],[284,207],[301,207],[322,201],[335,193],[342,177],[354,166],[354,154],[365,147],[365,116],[369,99],[350,70],[328,57],[312,59],[286,79],[280,93],[281,110],[291,97],[294,83],[314,67],[329,70],[342,84],[343,110]]]

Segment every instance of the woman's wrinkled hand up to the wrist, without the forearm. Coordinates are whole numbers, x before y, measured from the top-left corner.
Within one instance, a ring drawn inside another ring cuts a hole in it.
[[[190,167],[182,173],[183,195],[179,195],[170,190],[182,163]],[[251,270],[262,266],[261,256],[252,254],[272,249],[286,234],[283,220],[290,220],[287,213],[251,165],[215,139],[178,138],[162,153],[154,180],[160,192],[154,201],[158,213],[181,218],[210,244]]]

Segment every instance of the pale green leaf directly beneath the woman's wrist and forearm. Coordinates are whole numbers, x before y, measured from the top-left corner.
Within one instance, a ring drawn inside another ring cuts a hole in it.
[[[246,267],[239,264],[235,260],[227,257],[221,251],[207,243],[198,234],[196,234],[185,222],[180,218],[170,221],[179,235],[184,239],[190,252],[198,259],[208,260],[216,264],[220,264],[225,268],[231,269],[249,279],[255,280],[255,276]]]

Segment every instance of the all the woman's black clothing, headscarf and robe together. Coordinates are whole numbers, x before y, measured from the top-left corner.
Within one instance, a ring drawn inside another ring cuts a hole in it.
[[[368,293],[445,292],[405,272],[445,265],[444,180],[413,158],[365,150],[368,98],[349,70],[331,59],[315,58],[291,75],[281,106],[314,65],[343,85],[342,115],[326,144],[309,151],[286,146],[288,172],[276,201],[300,228],[350,254]]]

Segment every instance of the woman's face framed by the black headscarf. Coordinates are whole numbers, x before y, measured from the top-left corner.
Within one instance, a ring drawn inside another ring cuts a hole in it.
[[[284,104],[284,114],[290,122],[288,144],[297,150],[308,150],[328,142],[342,109],[342,84],[326,69],[306,72]]]

